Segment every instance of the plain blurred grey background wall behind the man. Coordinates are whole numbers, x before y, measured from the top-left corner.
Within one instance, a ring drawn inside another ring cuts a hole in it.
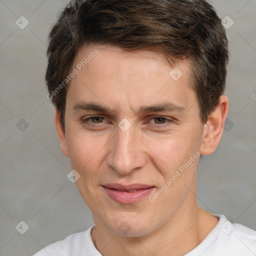
[[[47,34],[67,2],[0,0],[1,256],[32,255],[93,223],[66,177],[69,160],[60,151],[44,83]],[[234,21],[226,30],[229,127],[217,150],[199,163],[198,204],[256,229],[256,0],[211,3],[221,19],[228,15]],[[21,15],[29,20],[24,29],[15,24]],[[28,123],[23,131],[16,126],[21,118]],[[21,220],[29,226],[23,235],[15,228]]]

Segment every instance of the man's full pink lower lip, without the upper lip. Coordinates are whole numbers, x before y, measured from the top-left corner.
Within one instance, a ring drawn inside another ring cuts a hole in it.
[[[108,196],[110,196],[114,201],[123,203],[123,204],[130,204],[140,201],[142,198],[149,195],[154,187],[149,187],[146,189],[140,189],[134,192],[119,192],[115,189],[111,189],[108,187],[103,186]]]

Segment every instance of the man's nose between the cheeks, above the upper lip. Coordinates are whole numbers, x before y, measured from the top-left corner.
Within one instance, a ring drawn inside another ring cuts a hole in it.
[[[110,150],[107,155],[107,163],[115,171],[122,175],[142,167],[146,162],[145,145],[136,135],[134,125],[123,131],[116,128],[116,135],[109,141]]]

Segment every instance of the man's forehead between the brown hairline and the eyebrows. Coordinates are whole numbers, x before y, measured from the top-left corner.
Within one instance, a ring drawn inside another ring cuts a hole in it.
[[[120,109],[171,101],[185,108],[196,100],[190,86],[190,63],[183,60],[170,65],[159,52],[90,44],[79,49],[74,68],[77,74],[67,93],[73,105],[93,99]]]

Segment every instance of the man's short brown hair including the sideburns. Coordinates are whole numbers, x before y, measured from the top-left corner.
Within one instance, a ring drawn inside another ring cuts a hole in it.
[[[203,123],[224,92],[225,29],[205,0],[72,0],[50,31],[45,75],[63,128],[67,86],[52,92],[70,72],[78,48],[88,43],[152,47],[170,59],[189,59]]]

